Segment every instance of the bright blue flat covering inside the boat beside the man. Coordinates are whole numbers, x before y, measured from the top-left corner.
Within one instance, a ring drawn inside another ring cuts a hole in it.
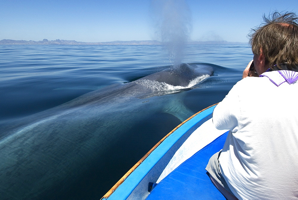
[[[210,157],[223,148],[227,134],[221,135],[173,170],[147,199],[225,199],[210,181],[205,167]]]

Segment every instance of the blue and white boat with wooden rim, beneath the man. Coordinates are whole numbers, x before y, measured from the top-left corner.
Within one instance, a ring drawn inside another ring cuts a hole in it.
[[[167,134],[102,199],[224,199],[205,170],[226,138],[226,130],[213,126],[215,106],[198,112]],[[178,177],[181,173],[184,176]],[[151,193],[149,183],[157,183]]]

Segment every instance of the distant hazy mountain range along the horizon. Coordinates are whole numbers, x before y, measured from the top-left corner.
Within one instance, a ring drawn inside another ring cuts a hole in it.
[[[142,41],[112,41],[112,42],[77,42],[75,40],[47,40],[42,41],[25,41],[25,40],[0,40],[0,45],[11,44],[64,44],[64,45],[161,45],[164,44],[157,40],[142,40]],[[228,42],[228,41],[190,41],[188,44],[247,44],[243,42]]]

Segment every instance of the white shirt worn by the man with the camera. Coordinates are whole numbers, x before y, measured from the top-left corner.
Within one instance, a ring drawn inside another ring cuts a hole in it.
[[[213,123],[230,130],[219,163],[238,199],[298,198],[297,82],[246,77],[216,106]]]

